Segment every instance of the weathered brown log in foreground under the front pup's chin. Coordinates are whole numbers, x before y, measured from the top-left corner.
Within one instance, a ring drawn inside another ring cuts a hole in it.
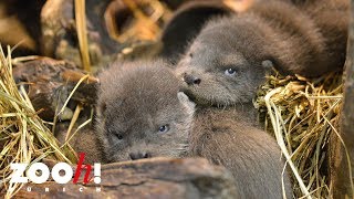
[[[85,171],[81,174],[80,181]],[[75,185],[72,181],[65,185],[54,181],[41,185],[28,184],[17,197],[238,198],[231,174],[223,167],[210,165],[201,158],[150,158],[103,165],[101,178],[101,184],[88,182],[87,185]],[[30,192],[28,187],[31,188]]]

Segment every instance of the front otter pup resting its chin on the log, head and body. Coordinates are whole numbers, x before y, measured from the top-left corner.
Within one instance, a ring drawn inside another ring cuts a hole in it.
[[[192,119],[195,105],[163,62],[114,64],[100,80],[97,132],[106,161],[201,156],[232,172],[242,198],[281,198],[280,150],[244,117],[249,108],[200,109]]]

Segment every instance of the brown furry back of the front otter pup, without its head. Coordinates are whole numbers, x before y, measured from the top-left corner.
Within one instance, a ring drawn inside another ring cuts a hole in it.
[[[240,198],[282,198],[282,179],[287,198],[291,198],[279,146],[247,115],[246,105],[197,108],[189,137],[191,155],[228,168],[241,190]]]

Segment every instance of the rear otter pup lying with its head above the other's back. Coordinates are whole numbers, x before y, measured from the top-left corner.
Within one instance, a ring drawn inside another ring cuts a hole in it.
[[[345,12],[334,12],[329,25]],[[247,103],[273,66],[308,77],[341,69],[345,42],[334,46],[314,19],[314,13],[294,4],[270,1],[254,3],[236,17],[211,20],[178,63],[186,92],[199,104]],[[345,20],[337,20],[345,27]],[[346,41],[345,29],[341,31],[335,41]]]

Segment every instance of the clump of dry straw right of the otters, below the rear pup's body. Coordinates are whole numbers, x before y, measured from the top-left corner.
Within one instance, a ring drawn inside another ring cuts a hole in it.
[[[291,167],[296,198],[327,198],[326,146],[337,134],[342,103],[342,74],[315,80],[267,76],[254,105],[266,129],[274,133]]]

